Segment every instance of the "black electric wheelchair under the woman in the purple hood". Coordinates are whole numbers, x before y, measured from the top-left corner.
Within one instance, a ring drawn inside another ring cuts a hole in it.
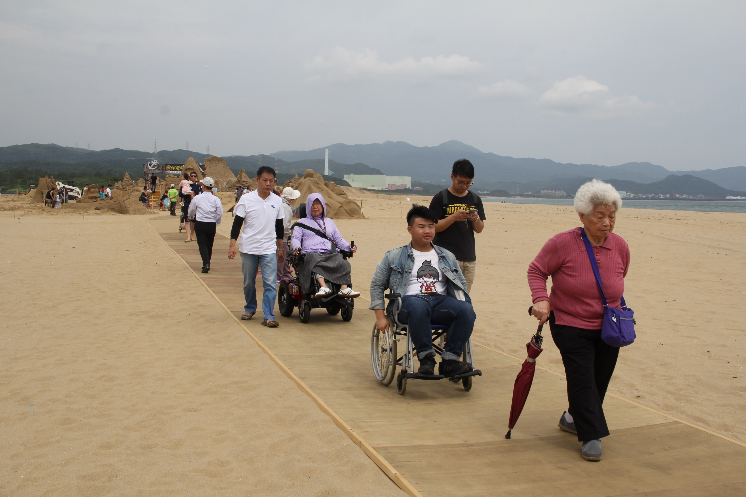
[[[299,212],[301,219],[306,217],[306,204],[301,203]],[[293,224],[293,229],[298,223]],[[352,247],[355,244],[354,241],[350,242]],[[287,239],[288,245],[288,262],[295,273],[290,279],[283,279],[280,281],[280,287],[278,288],[278,307],[280,308],[280,315],[284,317],[290,317],[292,310],[298,307],[298,317],[301,323],[308,323],[311,318],[311,309],[325,308],[327,313],[332,316],[336,314],[342,314],[343,321],[349,321],[352,319],[352,310],[355,308],[354,299],[348,299],[339,295],[339,287],[336,283],[327,281],[327,286],[331,290],[325,297],[316,298],[316,294],[319,292],[318,280],[316,279],[316,273],[311,273],[310,291],[304,293],[301,283],[298,281],[301,277],[301,270],[303,268],[303,260],[305,254],[292,253],[295,247],[290,247],[290,237]],[[339,250],[342,253],[343,259],[351,259],[352,252],[348,250]],[[352,288],[352,285],[348,285]]]

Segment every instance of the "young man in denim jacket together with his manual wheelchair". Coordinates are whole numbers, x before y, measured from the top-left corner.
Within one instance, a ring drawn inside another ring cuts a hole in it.
[[[371,306],[376,323],[371,338],[373,372],[390,384],[401,366],[396,386],[401,395],[407,379],[463,382],[471,390],[471,377],[481,375],[471,356],[474,308],[466,280],[455,256],[432,243],[436,215],[425,206],[407,212],[410,244],[389,250],[378,264],[371,282]],[[389,288],[391,293],[383,295]],[[389,300],[384,308],[384,298]],[[396,357],[397,342],[406,338],[407,349]],[[435,343],[433,343],[435,342]],[[419,368],[414,371],[414,355]],[[436,356],[441,356],[436,374]],[[463,360],[460,360],[463,356]]]

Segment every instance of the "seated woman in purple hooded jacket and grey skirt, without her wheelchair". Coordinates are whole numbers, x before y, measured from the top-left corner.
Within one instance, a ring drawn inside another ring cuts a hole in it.
[[[340,250],[349,250],[352,253],[357,252],[357,247],[354,245],[350,247],[345,238],[342,238],[342,235],[339,234],[339,229],[336,228],[334,221],[326,217],[326,202],[321,194],[312,193],[308,195],[306,199],[306,217],[299,220],[298,224],[304,224],[307,227],[318,229],[325,233]],[[292,230],[292,247],[295,247],[293,253],[306,254],[300,275],[301,288],[304,293],[310,291],[310,279],[313,272],[316,273],[316,279],[321,286],[319,293],[316,294],[316,298],[324,297],[331,293],[331,290],[326,285],[327,281],[341,285],[339,295],[342,295],[342,297],[351,299],[360,297],[359,291],[354,291],[348,287],[348,285],[352,284],[352,280],[350,279],[350,271],[352,270],[350,263],[342,259],[342,254],[336,252],[336,250],[332,253],[329,240],[316,235],[316,233],[308,229],[295,227]]]

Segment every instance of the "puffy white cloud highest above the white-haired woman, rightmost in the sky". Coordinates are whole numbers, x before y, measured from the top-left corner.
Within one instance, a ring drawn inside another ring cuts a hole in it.
[[[554,114],[610,119],[636,115],[652,104],[640,100],[637,95],[615,97],[609,92],[609,86],[578,75],[554,83],[542,93],[536,105]]]

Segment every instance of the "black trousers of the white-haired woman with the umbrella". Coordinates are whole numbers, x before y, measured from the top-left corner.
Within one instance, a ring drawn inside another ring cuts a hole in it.
[[[568,412],[575,422],[577,440],[587,442],[609,435],[604,417],[606,388],[614,373],[619,347],[606,345],[600,329],[575,328],[549,316],[552,339],[562,355],[567,376]]]

